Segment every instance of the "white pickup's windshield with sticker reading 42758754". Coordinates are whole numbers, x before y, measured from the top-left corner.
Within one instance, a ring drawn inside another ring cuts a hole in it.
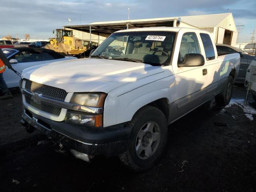
[[[166,65],[170,63],[175,36],[176,32],[163,31],[117,32],[91,57]]]

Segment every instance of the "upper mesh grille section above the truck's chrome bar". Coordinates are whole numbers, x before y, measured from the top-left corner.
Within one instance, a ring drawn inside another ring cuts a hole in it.
[[[64,101],[68,94],[63,89],[36,83],[30,80],[26,80],[25,89],[29,92],[43,94],[44,97],[59,101]]]

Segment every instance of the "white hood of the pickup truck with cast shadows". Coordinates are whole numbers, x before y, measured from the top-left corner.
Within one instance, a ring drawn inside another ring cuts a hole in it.
[[[160,66],[144,63],[86,58],[30,67],[23,70],[22,78],[66,92],[108,93],[124,84],[161,72],[164,70]]]

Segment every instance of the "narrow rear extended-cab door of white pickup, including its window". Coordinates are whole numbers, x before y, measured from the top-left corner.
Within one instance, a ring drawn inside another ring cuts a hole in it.
[[[200,33],[202,42],[201,51],[204,56],[206,71],[206,99],[211,98],[218,92],[220,79],[220,62],[217,57],[216,46],[213,44],[212,38],[207,33]]]

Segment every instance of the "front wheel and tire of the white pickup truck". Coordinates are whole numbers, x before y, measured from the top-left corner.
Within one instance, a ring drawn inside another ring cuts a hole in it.
[[[153,126],[152,135],[149,131],[150,125]],[[168,128],[166,117],[158,108],[144,106],[134,114],[134,117],[127,126],[132,128],[132,132],[126,152],[119,155],[120,160],[135,172],[151,168],[160,159],[167,141]],[[141,132],[144,134],[142,139],[140,139],[142,134],[138,135]],[[151,135],[151,138],[148,134]],[[144,138],[146,138],[145,141]],[[158,139],[154,140],[155,138]],[[144,152],[142,150],[140,154],[137,154],[139,153],[139,150],[136,149],[138,141],[140,141],[142,148],[150,148],[151,156],[147,156],[146,150]],[[147,146],[143,146],[145,143]]]

